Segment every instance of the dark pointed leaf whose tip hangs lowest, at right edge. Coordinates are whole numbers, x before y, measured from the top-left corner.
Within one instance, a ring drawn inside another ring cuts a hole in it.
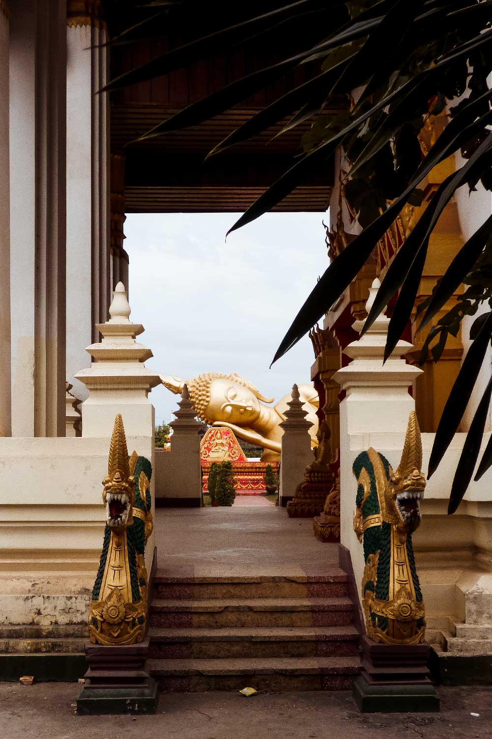
[[[488,385],[482,395],[482,400],[479,402],[474,419],[466,435],[465,443],[460,454],[460,461],[454,473],[453,484],[451,486],[448,514],[453,514],[457,510],[466,492],[466,488],[470,484],[471,476],[477,464],[480,446],[482,446],[485,423],[490,413],[491,396],[492,378],[488,381]]]

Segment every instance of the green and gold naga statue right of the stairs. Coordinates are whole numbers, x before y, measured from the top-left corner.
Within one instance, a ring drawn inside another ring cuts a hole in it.
[[[384,644],[419,644],[426,630],[422,591],[415,568],[412,533],[420,524],[426,486],[422,442],[410,414],[398,470],[375,449],[353,463],[358,482],[353,528],[364,539],[362,607],[367,636]]]

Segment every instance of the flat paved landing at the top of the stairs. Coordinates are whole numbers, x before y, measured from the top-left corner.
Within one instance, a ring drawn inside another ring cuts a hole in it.
[[[157,508],[156,546],[159,571],[173,576],[302,577],[338,567],[338,545],[277,505]]]

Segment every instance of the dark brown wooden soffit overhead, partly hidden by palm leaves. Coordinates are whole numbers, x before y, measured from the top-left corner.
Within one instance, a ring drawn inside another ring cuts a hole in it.
[[[209,10],[203,16],[185,17],[185,22],[179,13],[174,21],[170,16],[166,35],[111,50],[111,76],[145,64],[191,38],[210,33],[217,23]],[[316,34],[325,33],[309,24],[297,26],[292,31],[296,34],[295,44],[299,50],[313,40],[313,34],[316,37]],[[213,58],[187,69],[114,92],[111,95],[111,151],[124,152],[126,157],[125,210],[129,213],[244,211],[291,167],[302,152],[302,134],[310,128],[310,123],[277,138],[274,137],[280,126],[272,127],[265,134],[205,164],[204,159],[216,143],[255,112],[319,73],[318,63],[285,75],[242,106],[201,126],[135,143],[136,138],[184,106],[255,69],[274,64],[279,58],[279,50],[271,48],[271,39],[259,39],[235,52],[218,52]],[[333,109],[338,111],[345,105],[346,101],[340,100]],[[276,209],[325,211],[332,184],[333,163],[330,162]]]

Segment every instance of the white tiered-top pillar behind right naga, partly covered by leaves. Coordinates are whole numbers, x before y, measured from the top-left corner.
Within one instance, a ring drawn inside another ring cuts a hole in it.
[[[367,313],[379,285],[375,279],[366,304]],[[406,432],[409,414],[415,410],[409,387],[422,372],[401,359],[412,350],[408,341],[398,341],[383,364],[388,324],[389,319],[382,313],[364,336],[344,349],[344,354],[353,361],[333,375],[333,381],[347,392],[340,403],[340,541],[350,551],[356,582],[361,582],[364,571],[364,552],[353,530],[357,486],[352,465],[358,454],[353,452],[353,447],[362,450],[374,445],[378,451],[378,442],[371,437]],[[363,326],[364,321],[353,324],[358,333]]]

